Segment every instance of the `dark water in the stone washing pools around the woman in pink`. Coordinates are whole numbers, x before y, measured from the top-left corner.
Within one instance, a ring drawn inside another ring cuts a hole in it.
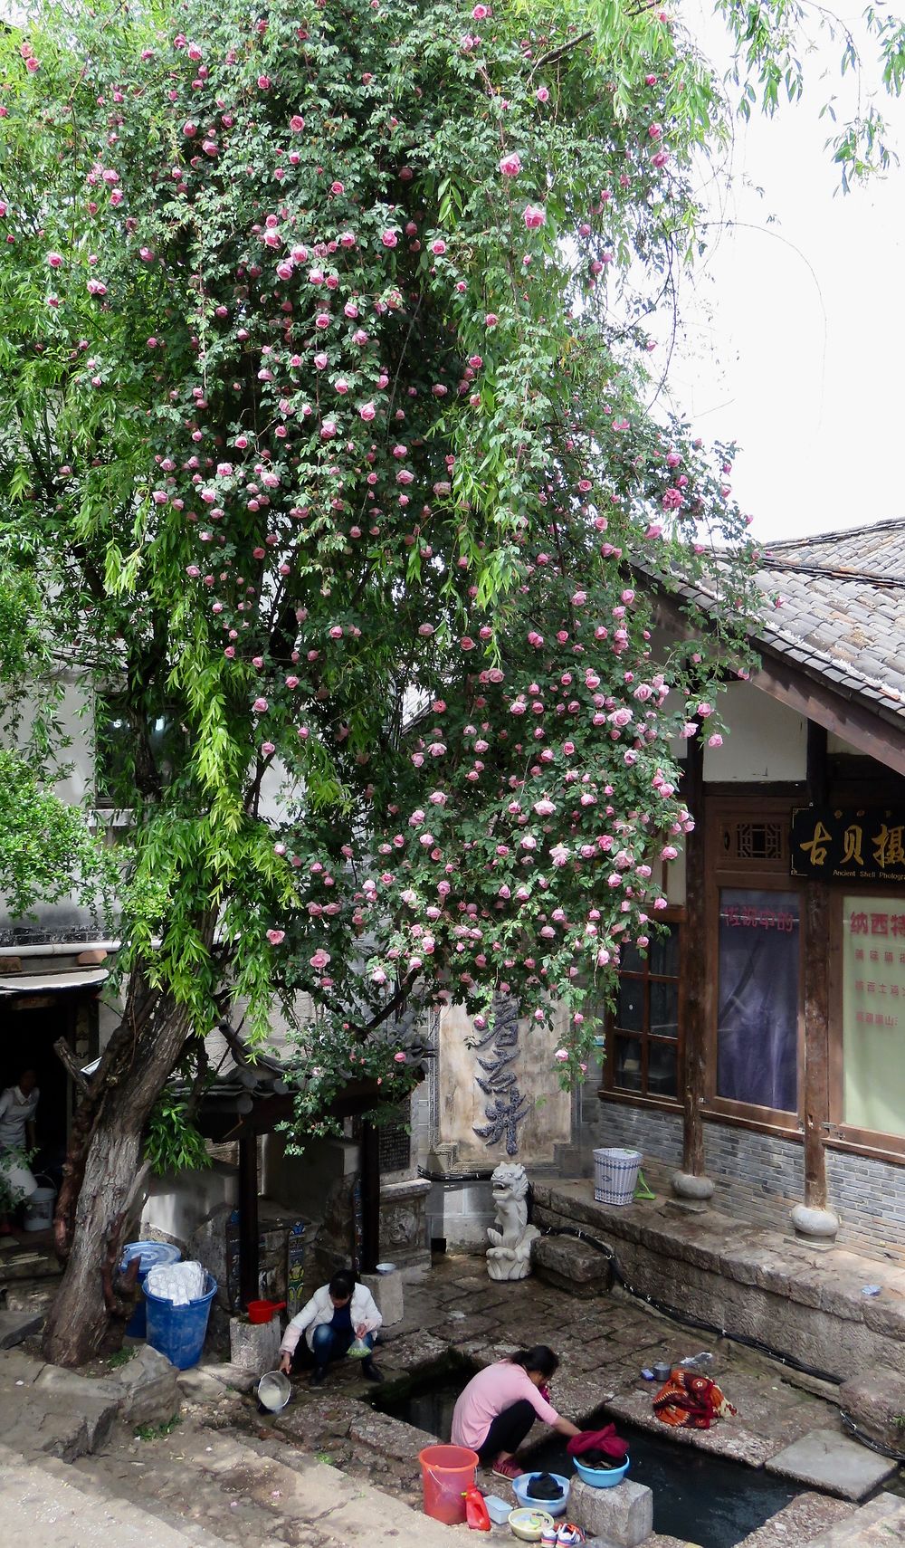
[[[435,1379],[424,1392],[415,1389],[402,1398],[381,1395],[376,1407],[447,1441],[453,1407],[467,1381],[469,1372],[456,1372],[449,1379]],[[599,1429],[608,1421],[606,1412],[600,1410],[586,1423],[588,1429]],[[665,1435],[651,1435],[622,1423],[619,1433],[631,1447],[630,1477],[653,1489],[654,1531],[699,1543],[701,1548],[735,1548],[800,1492],[760,1469],[713,1457]],[[572,1472],[560,1435],[532,1447],[531,1461],[548,1472]]]

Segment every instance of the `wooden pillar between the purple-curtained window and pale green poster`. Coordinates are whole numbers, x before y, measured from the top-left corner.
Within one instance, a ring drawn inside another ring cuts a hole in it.
[[[828,799],[826,731],[808,721],[808,803]],[[804,1204],[826,1209],[825,1122],[829,1118],[829,887],[809,881],[801,930],[804,954]]]

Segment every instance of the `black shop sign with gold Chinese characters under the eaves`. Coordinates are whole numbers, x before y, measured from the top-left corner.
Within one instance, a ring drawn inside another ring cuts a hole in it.
[[[905,882],[905,813],[798,807],[789,841],[792,876],[820,881]]]

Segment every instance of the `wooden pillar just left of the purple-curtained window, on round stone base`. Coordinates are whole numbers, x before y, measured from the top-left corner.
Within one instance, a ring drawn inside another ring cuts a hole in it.
[[[699,737],[687,741],[682,799],[695,819],[685,834],[685,926],[682,932],[681,1015],[682,1068],[682,1170],[704,1176],[704,1104],[707,1077],[707,954],[704,864],[704,748]]]

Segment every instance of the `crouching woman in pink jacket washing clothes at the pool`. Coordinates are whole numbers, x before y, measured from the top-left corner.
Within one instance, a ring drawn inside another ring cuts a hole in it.
[[[548,1401],[548,1382],[558,1364],[558,1354],[546,1344],[535,1344],[480,1370],[455,1406],[453,1446],[476,1450],[481,1468],[492,1466],[498,1478],[512,1480],[523,1471],[512,1460],[514,1452],[535,1420],[560,1435],[579,1435],[577,1426],[560,1418]]]

